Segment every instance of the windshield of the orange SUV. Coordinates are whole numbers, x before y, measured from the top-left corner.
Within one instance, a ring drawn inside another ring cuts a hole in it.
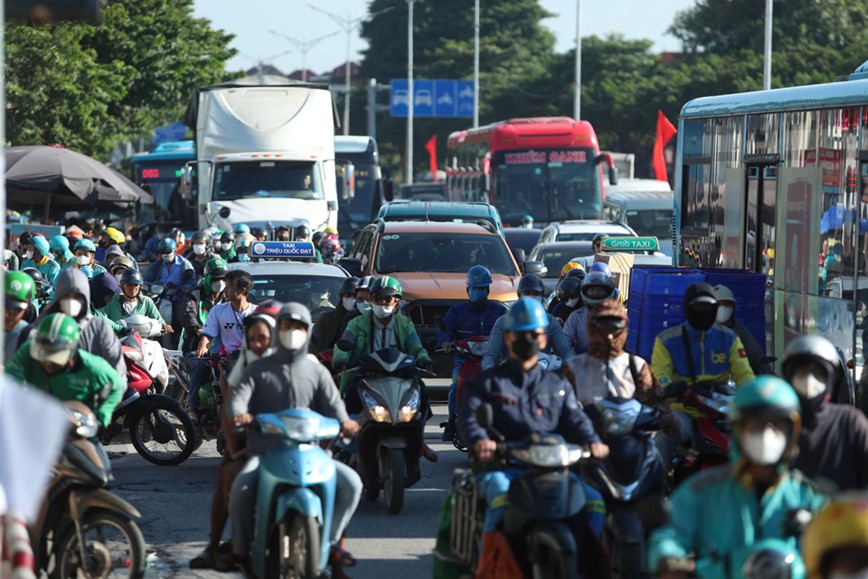
[[[499,235],[476,233],[400,233],[380,238],[377,273],[466,273],[484,265],[491,273],[518,275]]]

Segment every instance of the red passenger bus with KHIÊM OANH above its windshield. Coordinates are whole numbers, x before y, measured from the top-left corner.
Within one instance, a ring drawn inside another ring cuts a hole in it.
[[[587,121],[568,117],[509,119],[454,132],[447,143],[450,200],[487,201],[503,222],[519,225],[599,219],[604,185],[600,164],[617,181],[611,155],[600,153]]]

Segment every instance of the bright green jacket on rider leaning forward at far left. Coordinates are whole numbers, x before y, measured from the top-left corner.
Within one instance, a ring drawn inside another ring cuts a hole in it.
[[[126,381],[111,364],[78,350],[72,368],[49,376],[42,364],[30,357],[30,342],[24,342],[6,365],[6,373],[61,401],[78,400],[94,411],[104,427],[126,389]]]

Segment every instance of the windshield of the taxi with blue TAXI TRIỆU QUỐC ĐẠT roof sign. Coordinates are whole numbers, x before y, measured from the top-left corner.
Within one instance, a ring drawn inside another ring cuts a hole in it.
[[[335,307],[344,278],[311,275],[256,275],[250,301],[298,302],[310,309],[313,321]]]

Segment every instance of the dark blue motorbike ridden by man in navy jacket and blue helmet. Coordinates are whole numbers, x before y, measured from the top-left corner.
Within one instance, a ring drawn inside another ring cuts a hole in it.
[[[579,577],[578,546],[567,520],[585,506],[581,482],[570,468],[586,462],[585,448],[567,444],[556,435],[503,442],[492,428],[492,408],[477,411],[479,425],[498,440],[489,468],[519,468],[523,474],[509,488],[503,531],[525,577],[559,579]],[[455,470],[455,494],[448,552],[435,556],[476,572],[482,555],[482,529],[486,504],[471,469]]]

